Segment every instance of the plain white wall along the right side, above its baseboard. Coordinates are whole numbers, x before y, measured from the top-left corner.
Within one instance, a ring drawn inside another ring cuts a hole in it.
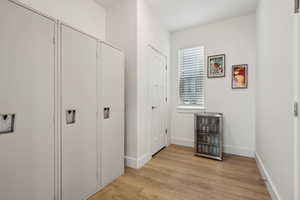
[[[293,199],[293,5],[261,0],[257,12],[257,156],[281,200]]]

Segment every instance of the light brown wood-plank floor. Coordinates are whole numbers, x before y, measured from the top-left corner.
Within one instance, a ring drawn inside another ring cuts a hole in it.
[[[171,145],[142,169],[124,176],[89,200],[270,200],[254,159],[226,155],[224,161],[195,157]]]

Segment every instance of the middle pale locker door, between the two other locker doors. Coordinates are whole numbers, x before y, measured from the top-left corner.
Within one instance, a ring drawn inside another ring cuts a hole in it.
[[[62,197],[81,200],[97,189],[97,41],[61,26]],[[75,122],[67,124],[68,110]]]

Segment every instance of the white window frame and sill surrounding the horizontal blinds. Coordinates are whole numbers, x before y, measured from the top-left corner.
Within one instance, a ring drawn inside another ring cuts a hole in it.
[[[180,97],[180,78],[181,78],[181,51],[184,49],[189,49],[189,48],[196,48],[196,47],[202,47],[203,48],[203,59],[204,59],[204,74],[203,74],[203,95],[204,95],[204,99],[203,99],[203,105],[199,105],[199,104],[183,104],[181,101],[181,97]],[[204,112],[206,110],[206,48],[204,45],[192,45],[192,46],[186,46],[186,47],[182,47],[182,48],[178,48],[177,50],[177,112],[179,113],[196,113],[196,112]]]

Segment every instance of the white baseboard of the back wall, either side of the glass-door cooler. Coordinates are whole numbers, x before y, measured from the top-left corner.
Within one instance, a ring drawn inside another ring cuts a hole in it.
[[[194,147],[194,140],[187,140],[183,138],[171,138],[171,143],[187,147]],[[224,145],[224,152],[239,156],[254,157],[254,150],[247,148]]]

